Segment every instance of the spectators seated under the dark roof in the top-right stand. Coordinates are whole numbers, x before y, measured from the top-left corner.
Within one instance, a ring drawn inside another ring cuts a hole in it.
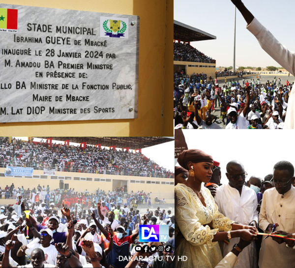
[[[216,63],[215,59],[193,48],[188,43],[174,42],[174,60]]]

